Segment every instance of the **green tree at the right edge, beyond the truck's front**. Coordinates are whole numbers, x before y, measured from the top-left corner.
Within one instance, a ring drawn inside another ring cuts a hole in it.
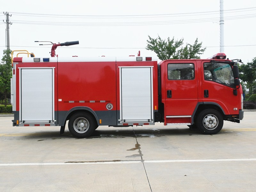
[[[256,57],[247,64],[239,66],[239,77],[249,89],[249,95],[256,93]]]

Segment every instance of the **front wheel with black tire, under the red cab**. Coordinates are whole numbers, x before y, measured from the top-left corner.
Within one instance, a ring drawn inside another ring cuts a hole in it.
[[[206,135],[216,134],[223,127],[223,117],[214,109],[204,109],[198,114],[196,125]]]

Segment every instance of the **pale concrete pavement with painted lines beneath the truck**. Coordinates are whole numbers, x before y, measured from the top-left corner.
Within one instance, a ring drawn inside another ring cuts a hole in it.
[[[0,191],[255,191],[255,116],[216,135],[156,123],[87,139],[0,117]]]

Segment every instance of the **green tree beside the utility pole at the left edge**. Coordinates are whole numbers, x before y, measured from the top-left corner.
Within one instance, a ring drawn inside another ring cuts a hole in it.
[[[8,93],[11,92],[11,78],[12,78],[12,60],[11,54],[12,50],[4,50],[2,62],[0,65],[0,92],[4,93],[5,106],[7,104]]]

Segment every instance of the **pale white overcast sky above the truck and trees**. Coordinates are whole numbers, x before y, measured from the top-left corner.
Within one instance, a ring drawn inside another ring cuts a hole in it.
[[[229,59],[251,62],[256,57],[256,1],[223,1],[224,53]],[[28,50],[36,57],[50,57],[51,45],[35,41],[79,41],[58,47],[59,57],[129,56],[139,51],[141,56],[156,56],[145,47],[148,35],[159,35],[184,38],[184,45],[198,38],[206,47],[201,58],[206,59],[220,52],[219,11],[219,0],[2,1],[0,57],[6,49],[3,12],[9,12],[11,50]]]

